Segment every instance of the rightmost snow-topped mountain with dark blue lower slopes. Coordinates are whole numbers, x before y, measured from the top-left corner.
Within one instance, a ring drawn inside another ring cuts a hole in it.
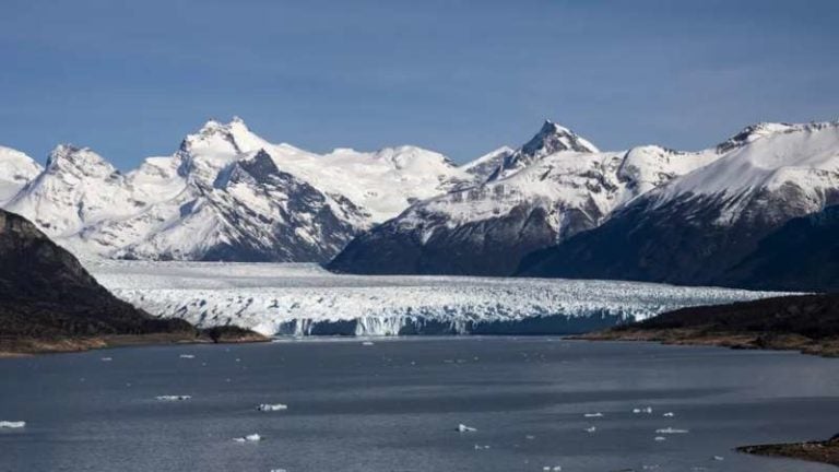
[[[757,125],[717,149],[720,158],[636,199],[602,226],[529,256],[521,273],[748,285],[759,274],[736,268],[755,259],[749,255],[765,237],[839,203],[839,122]]]

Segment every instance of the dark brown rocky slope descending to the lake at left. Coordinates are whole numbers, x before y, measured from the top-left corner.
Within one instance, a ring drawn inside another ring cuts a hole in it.
[[[22,216],[0,210],[0,352],[71,352],[113,345],[228,341],[154,318],[115,297],[70,252]]]

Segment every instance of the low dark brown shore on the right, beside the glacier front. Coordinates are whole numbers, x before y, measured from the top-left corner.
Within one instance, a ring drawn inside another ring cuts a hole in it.
[[[839,294],[683,308],[581,338],[795,350],[839,356]]]

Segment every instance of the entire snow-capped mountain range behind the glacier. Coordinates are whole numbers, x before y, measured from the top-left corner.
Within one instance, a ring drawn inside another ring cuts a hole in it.
[[[0,148],[0,206],[90,257],[834,290],[837,203],[839,122],[686,152],[601,151],[545,121],[460,166],[415,146],[319,155],[238,118],[126,174],[85,148],[44,168]]]

